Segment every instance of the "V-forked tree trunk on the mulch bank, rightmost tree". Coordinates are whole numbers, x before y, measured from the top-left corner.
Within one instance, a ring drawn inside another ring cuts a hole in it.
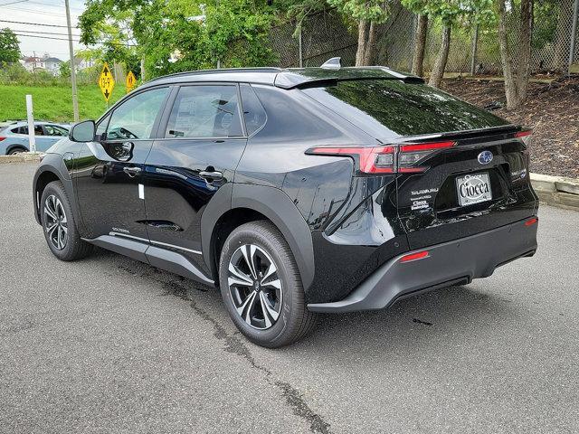
[[[507,109],[516,109],[527,99],[529,61],[531,58],[531,29],[533,25],[533,0],[521,0],[520,35],[517,43],[517,61],[513,59],[508,45],[507,6],[505,0],[498,2],[498,44],[505,78]]]

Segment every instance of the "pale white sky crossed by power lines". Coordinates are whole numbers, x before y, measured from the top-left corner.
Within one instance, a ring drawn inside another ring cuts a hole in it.
[[[78,50],[84,47],[78,42],[81,31],[74,27],[78,23],[79,15],[84,10],[84,0],[70,0],[70,5],[73,46],[74,50]],[[42,57],[44,53],[49,53],[52,57],[57,57],[62,61],[69,60],[66,27],[6,23],[7,21],[65,26],[64,0],[0,0],[0,28],[9,27],[18,34],[20,51],[24,56],[32,56],[33,52],[36,52],[37,56]],[[40,37],[24,36],[24,34]],[[48,39],[49,37],[54,39]]]

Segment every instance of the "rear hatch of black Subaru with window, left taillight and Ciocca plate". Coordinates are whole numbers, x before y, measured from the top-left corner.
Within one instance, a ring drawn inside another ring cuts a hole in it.
[[[356,176],[396,175],[398,217],[411,250],[536,213],[530,131],[420,83],[343,80],[303,89],[383,145],[318,147],[349,155]]]

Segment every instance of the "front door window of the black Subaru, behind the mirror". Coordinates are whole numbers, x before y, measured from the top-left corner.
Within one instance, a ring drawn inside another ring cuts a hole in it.
[[[147,90],[126,100],[112,112],[107,140],[150,138],[168,88]]]

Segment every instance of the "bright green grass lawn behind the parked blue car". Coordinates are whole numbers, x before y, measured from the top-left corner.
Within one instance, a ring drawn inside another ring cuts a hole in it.
[[[107,109],[99,87],[79,86],[79,115],[83,119],[96,119]],[[61,86],[7,86],[0,85],[0,121],[26,118],[26,95],[33,96],[34,118],[57,122],[72,122],[72,90]],[[117,85],[109,103],[125,95],[125,86]]]

